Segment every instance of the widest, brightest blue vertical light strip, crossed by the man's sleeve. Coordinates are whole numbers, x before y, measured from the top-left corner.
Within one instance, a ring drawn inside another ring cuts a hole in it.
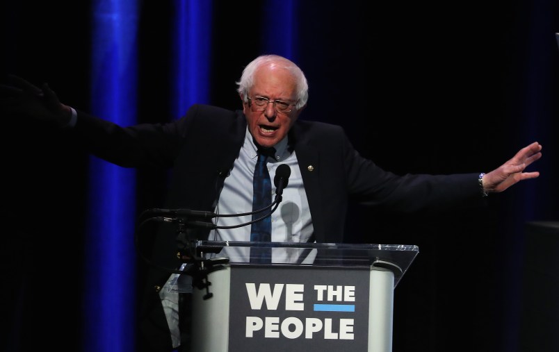
[[[91,106],[122,126],[136,122],[136,0],[92,2]],[[136,173],[90,158],[83,351],[136,351]]]

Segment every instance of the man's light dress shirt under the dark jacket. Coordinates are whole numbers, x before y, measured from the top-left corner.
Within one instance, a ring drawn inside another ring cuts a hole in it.
[[[271,215],[272,242],[307,242],[313,233],[313,226],[297,156],[294,151],[291,152],[289,150],[287,137],[275,145],[275,150],[275,158],[268,158],[268,172],[272,184],[275,171],[282,164],[290,167],[291,175],[289,176],[287,186],[284,188],[282,202]],[[241,214],[252,211],[252,178],[257,159],[257,146],[254,144],[252,135],[247,128],[245,142],[233,164],[233,168],[225,178],[218,205],[214,210],[216,214]],[[272,199],[274,199],[274,187],[272,192]],[[262,212],[262,214],[264,213]],[[244,217],[218,216],[213,221],[217,226],[236,226],[245,224],[251,221],[251,219],[251,215]],[[208,240],[250,241],[250,225],[228,229],[218,228],[211,231]],[[221,253],[212,254],[211,256],[222,257],[226,255],[234,258],[235,262],[248,262],[248,251],[248,247],[225,247]],[[299,260],[301,251],[302,249],[274,248],[272,251],[272,262],[295,263]],[[315,255],[316,252],[312,252],[305,258],[303,263],[312,262]],[[170,328],[173,347],[177,347],[180,344],[177,278],[177,274],[171,275],[159,292]],[[184,278],[181,276],[182,279]],[[184,292],[184,290],[180,291]]]

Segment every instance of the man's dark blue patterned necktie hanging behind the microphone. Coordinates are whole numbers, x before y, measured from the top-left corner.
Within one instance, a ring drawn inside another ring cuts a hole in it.
[[[275,149],[259,149],[258,161],[254,167],[254,178],[252,180],[252,211],[266,208],[272,203],[272,182],[266,159],[273,156]],[[263,217],[269,210],[252,215],[252,220]],[[270,242],[272,240],[272,218],[270,216],[252,224],[250,228],[250,241]],[[250,249],[250,262],[254,264],[270,264],[272,262],[272,249],[253,246]]]

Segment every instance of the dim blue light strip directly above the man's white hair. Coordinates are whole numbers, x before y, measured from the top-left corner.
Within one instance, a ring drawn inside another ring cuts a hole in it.
[[[262,14],[264,23],[276,23],[281,26],[264,26],[266,33],[261,37],[261,47],[264,53],[275,53],[295,63],[298,61],[298,1],[297,0],[268,0],[264,4]]]

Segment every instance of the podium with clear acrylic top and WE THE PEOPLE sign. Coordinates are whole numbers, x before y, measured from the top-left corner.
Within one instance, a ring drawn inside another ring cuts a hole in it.
[[[250,264],[253,246],[270,247],[272,264]],[[419,253],[414,245],[230,241],[199,241],[196,250],[219,262],[209,285],[193,288],[197,352],[389,352],[394,288]]]

